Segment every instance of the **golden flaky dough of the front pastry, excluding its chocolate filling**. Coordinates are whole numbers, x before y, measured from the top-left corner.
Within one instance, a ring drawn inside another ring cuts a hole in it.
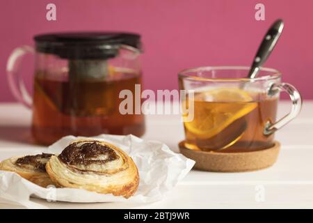
[[[51,180],[59,187],[72,187],[113,194],[125,198],[131,197],[138,189],[139,174],[134,161],[120,148],[104,141],[96,141],[111,148],[117,159],[103,164],[66,164],[54,155],[47,162],[46,170]],[[95,143],[92,140],[77,140],[72,144]],[[106,159],[100,155],[100,160]],[[97,157],[93,157],[97,159]]]

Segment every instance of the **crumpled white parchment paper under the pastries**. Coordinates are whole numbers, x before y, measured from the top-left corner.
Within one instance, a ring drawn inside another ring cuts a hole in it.
[[[43,152],[61,153],[75,139],[86,139],[86,137],[63,137]],[[133,197],[125,199],[112,194],[97,194],[73,188],[55,188],[53,186],[44,188],[13,172],[0,171],[0,203],[14,203],[26,208],[45,208],[45,206],[30,201],[31,196],[48,201],[83,203],[153,202],[162,199],[167,192],[172,190],[195,164],[193,160],[184,155],[170,151],[166,144],[143,140],[131,134],[127,136],[101,134],[88,139],[108,141],[131,156],[138,167],[140,177],[138,191]]]

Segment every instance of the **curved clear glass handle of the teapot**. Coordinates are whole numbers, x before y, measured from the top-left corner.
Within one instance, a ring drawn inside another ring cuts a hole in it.
[[[8,58],[6,63],[6,75],[8,77],[8,84],[10,90],[13,93],[14,97],[22,102],[28,108],[31,108],[33,105],[33,99],[31,95],[26,90],[26,86],[23,82],[23,79],[19,75],[20,62],[26,54],[34,54],[35,49],[31,46],[24,45],[22,47],[17,47],[13,50]],[[16,81],[15,81],[16,79]]]

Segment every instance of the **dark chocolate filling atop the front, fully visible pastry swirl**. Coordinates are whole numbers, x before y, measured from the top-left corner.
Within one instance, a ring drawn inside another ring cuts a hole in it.
[[[77,141],[67,146],[58,159],[65,164],[104,164],[118,159],[118,155],[109,146],[99,141]]]

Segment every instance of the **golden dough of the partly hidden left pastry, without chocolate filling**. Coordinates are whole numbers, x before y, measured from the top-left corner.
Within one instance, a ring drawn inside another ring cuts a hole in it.
[[[45,171],[38,171],[34,167],[24,168],[19,167],[15,164],[16,160],[20,157],[10,157],[7,160],[0,162],[0,170],[11,171],[19,174],[22,178],[29,180],[41,187],[47,187],[49,185],[54,185],[54,182],[50,179],[49,175]]]

